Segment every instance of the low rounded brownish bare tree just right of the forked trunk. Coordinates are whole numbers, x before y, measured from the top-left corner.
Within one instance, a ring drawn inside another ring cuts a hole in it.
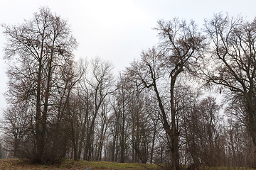
[[[208,96],[196,103],[188,115],[187,149],[196,166],[224,166],[224,126],[219,111],[216,99]]]

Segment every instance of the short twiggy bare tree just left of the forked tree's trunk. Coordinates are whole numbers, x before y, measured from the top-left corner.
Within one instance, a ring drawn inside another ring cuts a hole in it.
[[[132,128],[132,149],[134,162],[146,164],[149,159],[149,145],[152,141],[150,100],[147,91],[134,91],[129,100],[129,123]]]

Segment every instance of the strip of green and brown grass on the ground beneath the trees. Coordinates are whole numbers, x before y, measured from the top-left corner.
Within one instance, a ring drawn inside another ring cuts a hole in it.
[[[129,164],[129,163],[117,163],[117,162],[86,162],[73,160],[66,160],[61,164],[56,165],[35,165],[29,164],[28,162],[23,162],[20,159],[0,159],[0,169],[1,170],[25,170],[25,169],[34,169],[34,170],[46,170],[46,169],[83,169],[87,167],[92,167],[92,169],[135,169],[135,170],[144,170],[144,169],[159,169],[159,166],[156,164]]]

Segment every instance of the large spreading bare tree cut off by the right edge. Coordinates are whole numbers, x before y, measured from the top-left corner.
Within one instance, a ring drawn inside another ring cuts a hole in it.
[[[249,22],[219,13],[206,20],[205,26],[214,63],[208,62],[210,68],[201,73],[206,82],[220,85],[227,96],[243,103],[247,129],[256,146],[256,18]]]

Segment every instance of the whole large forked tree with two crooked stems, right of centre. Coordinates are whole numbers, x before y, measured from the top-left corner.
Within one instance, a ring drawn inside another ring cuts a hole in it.
[[[137,74],[145,87],[154,89],[163,127],[169,137],[171,162],[175,169],[179,169],[179,132],[174,101],[175,83],[181,72],[190,71],[191,65],[195,64],[196,59],[200,57],[200,52],[205,47],[205,38],[198,33],[193,21],[187,24],[186,21],[180,21],[177,18],[173,21],[159,21],[155,29],[159,31],[161,52],[157,52],[154,48],[149,52],[143,52],[142,61],[134,63],[131,71]],[[159,91],[159,81],[162,78],[169,79],[171,123],[167,118],[167,110],[164,108],[163,96]]]

